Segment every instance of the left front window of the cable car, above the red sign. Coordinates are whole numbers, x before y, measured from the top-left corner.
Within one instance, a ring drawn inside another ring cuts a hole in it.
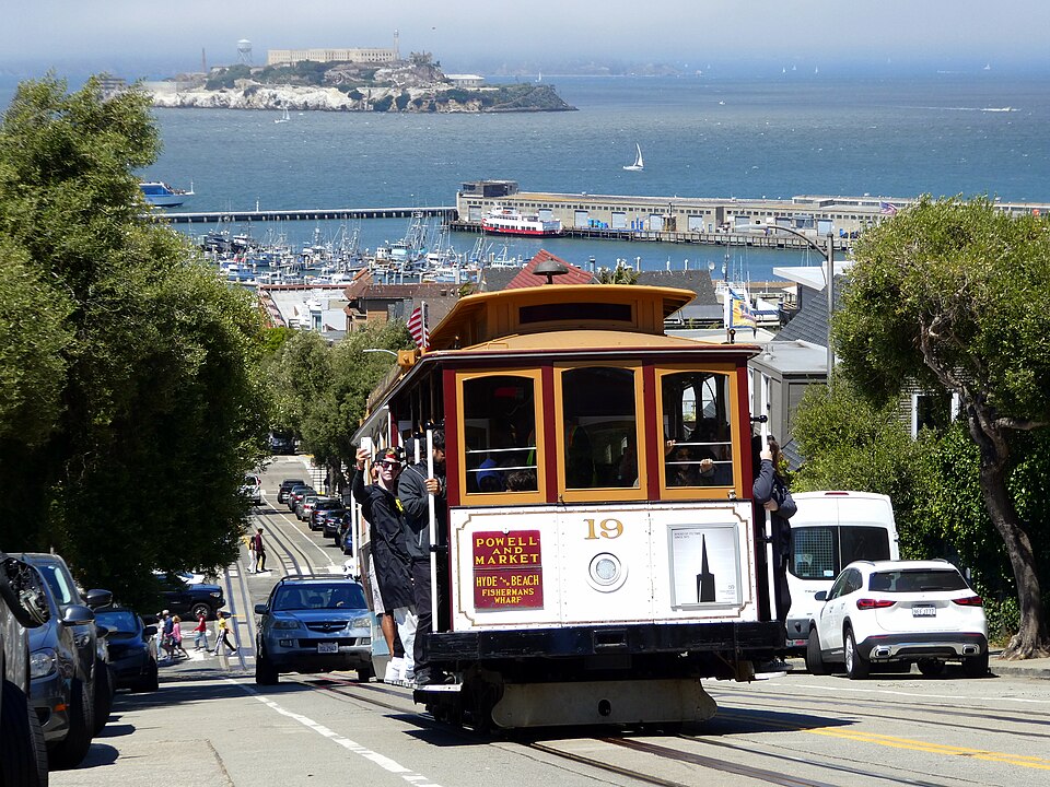
[[[536,408],[530,377],[492,375],[463,384],[467,492],[535,492]]]

